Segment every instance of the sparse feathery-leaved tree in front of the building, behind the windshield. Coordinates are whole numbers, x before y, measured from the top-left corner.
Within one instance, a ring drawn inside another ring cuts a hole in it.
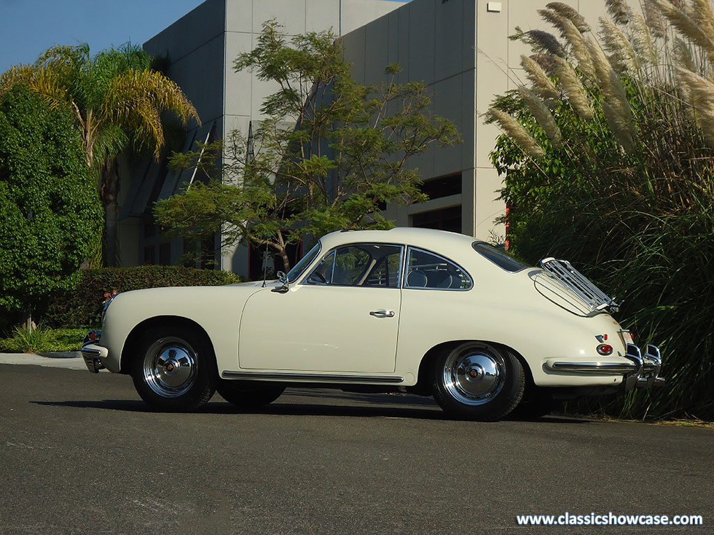
[[[234,131],[211,151],[177,155],[179,167],[206,165],[223,150],[223,180],[193,183],[156,206],[174,235],[212,235],[223,245],[251,242],[278,254],[288,245],[342,228],[390,228],[386,203],[423,200],[408,158],[431,143],[458,141],[453,123],[434,116],[423,83],[363,86],[350,76],[331,32],[296,36],[288,44],[275,21],[263,25],[255,48],[240,54],[248,69],[279,87],[263,102],[265,116],[248,136]],[[210,173],[209,173],[210,174]]]

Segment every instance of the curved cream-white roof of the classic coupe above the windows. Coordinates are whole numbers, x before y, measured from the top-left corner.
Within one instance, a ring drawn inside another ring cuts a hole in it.
[[[338,230],[321,238],[323,248],[348,243],[396,243],[433,250],[435,253],[463,251],[477,241],[473,236],[431,228],[397,227],[390,230]]]

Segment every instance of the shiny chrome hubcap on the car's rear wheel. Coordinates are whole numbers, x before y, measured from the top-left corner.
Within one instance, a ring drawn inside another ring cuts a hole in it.
[[[458,402],[481,405],[501,392],[506,362],[501,352],[488,345],[457,347],[446,359],[443,381]]]

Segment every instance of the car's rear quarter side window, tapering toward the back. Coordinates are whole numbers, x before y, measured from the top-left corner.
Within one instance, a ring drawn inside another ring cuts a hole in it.
[[[408,255],[404,287],[430,290],[471,288],[471,277],[451,260],[415,248],[409,248]]]

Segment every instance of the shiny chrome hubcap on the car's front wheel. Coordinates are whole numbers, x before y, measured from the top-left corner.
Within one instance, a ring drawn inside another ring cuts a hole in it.
[[[144,357],[144,380],[161,397],[178,397],[196,383],[198,358],[181,338],[161,338]]]

